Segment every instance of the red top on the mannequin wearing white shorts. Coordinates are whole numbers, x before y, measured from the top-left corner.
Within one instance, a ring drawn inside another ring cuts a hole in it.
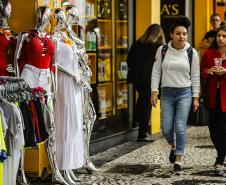
[[[51,68],[54,57],[54,43],[46,35],[41,38],[35,31],[30,31],[25,40],[19,59],[19,68],[22,72],[25,64],[30,64],[40,69]]]

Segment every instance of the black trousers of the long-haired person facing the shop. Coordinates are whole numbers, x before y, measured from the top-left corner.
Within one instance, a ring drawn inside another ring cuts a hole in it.
[[[134,121],[139,123],[139,137],[145,137],[149,132],[149,121],[151,115],[151,87],[135,86],[138,99],[134,110]]]

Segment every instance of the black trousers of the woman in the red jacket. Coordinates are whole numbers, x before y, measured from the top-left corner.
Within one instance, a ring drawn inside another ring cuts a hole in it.
[[[223,164],[226,156],[226,112],[221,111],[220,90],[217,91],[217,104],[210,109],[210,137],[217,150],[216,164]]]

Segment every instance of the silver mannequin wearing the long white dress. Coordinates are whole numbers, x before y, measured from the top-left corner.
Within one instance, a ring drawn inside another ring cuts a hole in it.
[[[76,44],[65,33],[64,11],[57,8],[52,16],[55,52],[57,163],[65,179],[75,183],[72,170],[84,165],[82,84]]]

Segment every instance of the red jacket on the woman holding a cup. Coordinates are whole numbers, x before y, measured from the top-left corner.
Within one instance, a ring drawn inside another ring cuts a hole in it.
[[[217,82],[220,82],[221,109],[226,112],[226,75],[208,75],[207,71],[214,64],[214,58],[220,58],[221,54],[216,49],[207,49],[201,60],[201,79],[208,79],[208,103],[210,108],[216,108]],[[222,66],[226,68],[226,62]]]

